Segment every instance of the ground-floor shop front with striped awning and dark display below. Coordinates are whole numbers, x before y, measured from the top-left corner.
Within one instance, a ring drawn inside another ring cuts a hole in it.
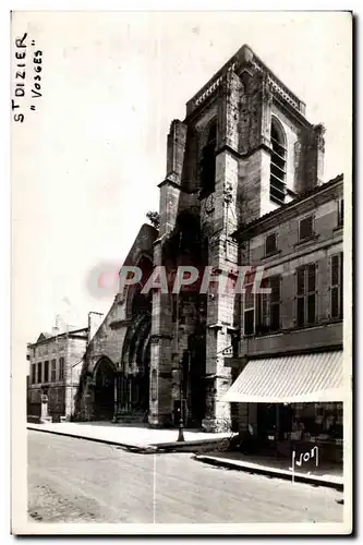
[[[249,408],[241,427],[259,452],[297,459],[318,447],[320,462],[342,463],[342,352],[251,360],[225,400]]]

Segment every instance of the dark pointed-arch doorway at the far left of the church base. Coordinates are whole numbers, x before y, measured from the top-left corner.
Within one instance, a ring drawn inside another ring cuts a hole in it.
[[[112,420],[114,410],[114,371],[111,362],[102,358],[96,367],[95,419]]]

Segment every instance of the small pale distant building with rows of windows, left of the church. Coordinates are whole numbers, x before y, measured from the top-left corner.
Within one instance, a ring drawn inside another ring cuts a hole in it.
[[[58,335],[41,332],[36,342],[28,344],[28,419],[40,417],[43,396],[53,422],[72,417],[87,341],[88,328],[82,328]]]

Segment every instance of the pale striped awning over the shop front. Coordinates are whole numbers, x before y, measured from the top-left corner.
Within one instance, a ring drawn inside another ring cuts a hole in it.
[[[341,350],[251,360],[222,401],[252,403],[343,400]]]

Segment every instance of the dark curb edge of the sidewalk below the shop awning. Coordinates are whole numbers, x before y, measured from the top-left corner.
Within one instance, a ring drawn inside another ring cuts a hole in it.
[[[203,456],[203,455],[201,455],[201,456],[196,455],[194,457],[194,459],[199,461],[199,462],[209,463],[210,465],[216,465],[219,468],[227,468],[227,469],[235,470],[235,471],[244,471],[246,473],[257,473],[261,475],[267,475],[270,477],[285,479],[285,480],[291,481],[291,474],[282,473],[282,472],[275,471],[275,470],[268,469],[268,468],[263,468],[263,467],[259,467],[259,468],[253,467],[252,468],[249,465],[239,465],[237,463],[229,462],[227,460],[216,459],[216,458],[211,458],[211,457]],[[323,481],[323,480],[316,479],[312,475],[302,475],[302,474],[295,473],[294,481],[300,482],[300,483],[312,484],[315,486],[325,486],[327,488],[335,488],[335,489],[340,491],[340,492],[342,492],[344,489],[344,485],[342,483],[334,483],[331,481]]]

